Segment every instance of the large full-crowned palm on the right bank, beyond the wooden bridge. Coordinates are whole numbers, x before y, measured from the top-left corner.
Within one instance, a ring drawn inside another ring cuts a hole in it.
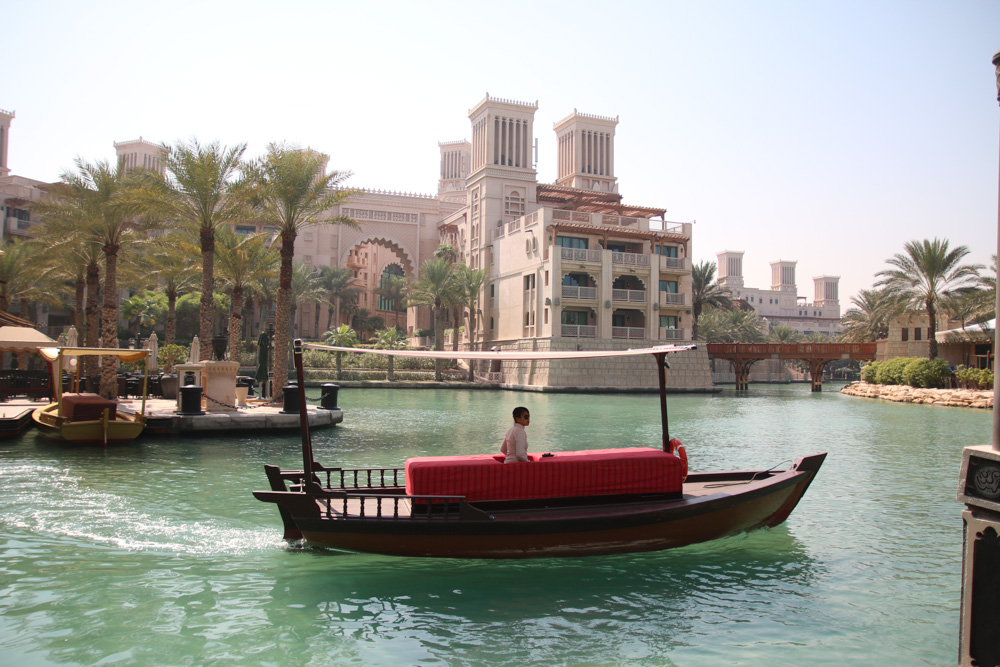
[[[973,284],[979,278],[980,264],[962,264],[969,249],[948,248],[947,239],[909,241],[905,252],[886,260],[895,268],[879,271],[877,287],[887,287],[898,294],[909,307],[927,312],[928,356],[937,358],[937,312],[947,296]]]

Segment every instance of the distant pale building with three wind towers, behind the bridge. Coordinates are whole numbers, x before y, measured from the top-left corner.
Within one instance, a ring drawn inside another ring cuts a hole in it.
[[[725,250],[718,258],[718,283],[729,290],[733,299],[753,307],[772,326],[786,326],[803,335],[825,334],[831,338],[841,333],[840,276],[813,278],[813,301],[798,295],[795,284],[797,262],[771,262],[771,288],[760,289],[743,284],[743,251]]]

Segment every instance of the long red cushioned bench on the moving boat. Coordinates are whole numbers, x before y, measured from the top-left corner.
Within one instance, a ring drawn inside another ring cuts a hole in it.
[[[422,456],[406,461],[407,495],[465,496],[466,500],[525,500],[637,493],[679,493],[684,466],[648,447],[529,454],[504,463],[501,455]]]

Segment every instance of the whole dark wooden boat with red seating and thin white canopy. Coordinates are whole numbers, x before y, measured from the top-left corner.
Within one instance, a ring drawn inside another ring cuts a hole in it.
[[[533,454],[530,463],[514,464],[481,455],[418,457],[401,468],[326,467],[313,458],[302,395],[302,469],[265,466],[270,490],[254,491],[254,496],[278,505],[285,539],[397,556],[531,558],[655,551],[777,526],[795,509],[826,454],[799,458],[783,470],[687,474],[683,446],[669,437],[667,428],[665,369],[668,353],[693,347],[460,353],[480,359],[651,354],[660,373],[662,448]],[[421,355],[454,358],[450,353]],[[296,341],[295,365],[304,394],[301,357]],[[484,443],[487,448],[494,444]]]

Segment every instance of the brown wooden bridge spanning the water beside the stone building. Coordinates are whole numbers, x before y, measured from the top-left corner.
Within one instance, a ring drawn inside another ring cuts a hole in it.
[[[750,367],[762,359],[796,359],[809,364],[813,391],[823,390],[823,369],[837,359],[873,361],[875,343],[708,343],[708,356],[727,359],[736,389],[750,388]]]

